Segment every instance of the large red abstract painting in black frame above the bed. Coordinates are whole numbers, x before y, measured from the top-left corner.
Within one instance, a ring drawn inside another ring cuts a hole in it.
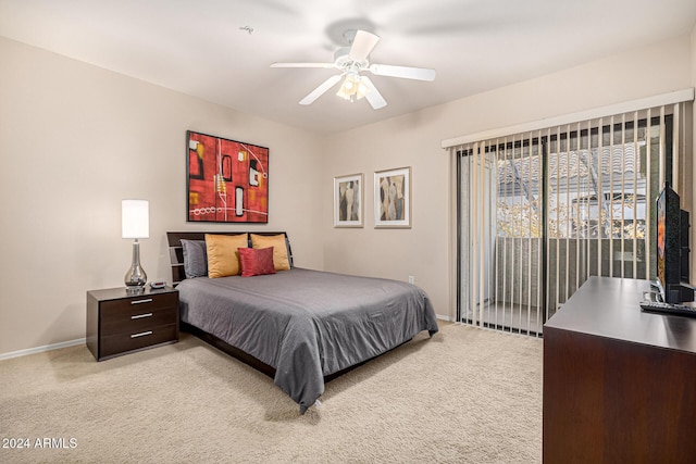
[[[269,222],[269,149],[188,130],[187,221]]]

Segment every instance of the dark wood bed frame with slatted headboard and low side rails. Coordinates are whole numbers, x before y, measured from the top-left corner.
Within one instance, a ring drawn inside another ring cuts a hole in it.
[[[184,249],[182,247],[182,239],[185,240],[204,240],[206,234],[216,234],[216,235],[241,235],[241,234],[257,234],[264,236],[273,236],[281,235],[285,236],[285,243],[287,244],[288,260],[290,262],[290,267],[293,264],[293,251],[290,249],[290,242],[287,238],[287,234],[284,231],[167,231],[166,239],[170,246],[170,261],[172,263],[172,285],[176,287],[182,280],[186,279],[186,274],[184,273]],[[251,243],[249,243],[251,246]],[[243,363],[256,368],[257,371],[268,375],[271,378],[275,377],[275,367],[265,364],[262,361],[253,358],[251,354],[241,351],[238,348],[233,347],[226,341],[215,337],[214,335],[208,334],[204,330],[201,330],[198,327],[194,327],[190,324],[186,324],[179,321],[179,329],[192,334],[194,336],[200,338],[208,344],[211,344],[219,350],[229,354],[231,356],[241,361]],[[368,360],[369,361],[369,360]],[[324,384],[344,375],[345,373],[353,369],[357,366],[360,366],[368,361],[356,364],[353,366],[347,367],[344,371],[339,371],[337,373],[324,376]]]

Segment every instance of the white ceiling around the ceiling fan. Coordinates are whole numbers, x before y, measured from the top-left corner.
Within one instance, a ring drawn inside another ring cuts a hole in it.
[[[696,0],[0,0],[0,36],[318,133],[659,42],[695,24]],[[298,104],[336,71],[269,65],[332,62],[347,28],[381,37],[372,63],[432,67],[437,77],[370,75],[388,102],[381,110],[341,100],[337,88]]]

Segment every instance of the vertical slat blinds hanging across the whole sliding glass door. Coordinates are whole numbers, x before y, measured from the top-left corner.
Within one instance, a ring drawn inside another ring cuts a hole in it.
[[[679,191],[686,104],[449,147],[458,319],[540,336],[589,276],[654,279],[654,200],[666,179]]]

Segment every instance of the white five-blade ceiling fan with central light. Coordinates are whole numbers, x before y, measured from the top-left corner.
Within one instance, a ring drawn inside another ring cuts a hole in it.
[[[386,100],[372,80],[360,73],[370,71],[376,76],[401,77],[415,80],[433,80],[435,70],[425,67],[394,66],[390,64],[370,64],[369,55],[377,45],[380,37],[366,30],[348,32],[345,35],[353,36],[349,39],[350,47],[340,48],[334,53],[333,63],[273,63],[271,67],[324,67],[335,68],[341,74],[330,77],[319,87],[312,90],[307,97],[300,100],[300,104],[311,104],[319,97],[328,91],[341,79],[340,89],[336,93],[338,97],[353,101],[365,98],[370,105],[378,110],[387,105]]]

